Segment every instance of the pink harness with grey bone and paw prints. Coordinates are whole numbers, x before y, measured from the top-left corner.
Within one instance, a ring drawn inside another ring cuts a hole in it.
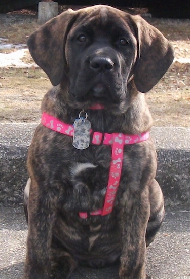
[[[73,136],[73,125],[66,124],[59,119],[43,113],[42,122],[45,127],[69,136]],[[116,199],[116,193],[120,183],[122,162],[123,162],[123,148],[124,145],[141,143],[149,138],[149,132],[138,135],[122,134],[122,133],[102,133],[90,130],[91,144],[93,145],[112,145],[111,164],[109,170],[109,179],[107,184],[107,192],[105,195],[104,206],[102,209],[90,212],[90,215],[107,215],[112,212],[113,204]],[[79,212],[79,216],[83,219],[88,217],[87,212]]]

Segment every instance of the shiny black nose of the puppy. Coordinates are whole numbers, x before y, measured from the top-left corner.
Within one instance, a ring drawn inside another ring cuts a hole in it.
[[[94,57],[90,61],[90,67],[98,72],[111,71],[113,66],[113,61],[107,57]]]

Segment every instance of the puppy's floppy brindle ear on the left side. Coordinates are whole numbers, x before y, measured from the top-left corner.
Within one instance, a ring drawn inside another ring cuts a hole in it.
[[[34,61],[48,75],[53,85],[58,85],[64,74],[64,45],[75,12],[68,9],[37,29],[28,39],[28,48]]]

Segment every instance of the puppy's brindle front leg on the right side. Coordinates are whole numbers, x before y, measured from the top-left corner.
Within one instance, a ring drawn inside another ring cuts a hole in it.
[[[145,233],[149,219],[148,187],[140,193],[126,193],[125,208],[121,213],[122,254],[120,258],[120,279],[146,279]]]

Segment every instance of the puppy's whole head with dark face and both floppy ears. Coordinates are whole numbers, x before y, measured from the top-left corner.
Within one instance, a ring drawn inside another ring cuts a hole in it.
[[[64,81],[70,98],[80,103],[120,103],[131,80],[147,92],[173,61],[158,29],[104,5],[67,10],[35,31],[28,47],[52,84]]]

